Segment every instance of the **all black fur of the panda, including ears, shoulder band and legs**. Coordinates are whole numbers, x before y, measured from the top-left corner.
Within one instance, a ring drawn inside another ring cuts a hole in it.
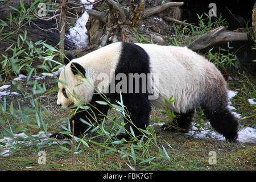
[[[65,59],[64,63],[67,65],[69,63],[69,60],[74,59],[74,56],[71,54],[67,55],[68,59]],[[79,63],[76,63],[75,61],[72,61],[71,64],[72,73],[74,75],[77,75],[82,73],[86,77],[85,68],[83,68]],[[79,72],[78,72],[79,71]],[[128,75],[129,73],[151,73],[150,68],[150,57],[148,56],[148,53],[144,51],[144,49],[137,44],[133,43],[122,43],[122,50],[121,55],[119,56],[117,67],[115,68],[115,75],[118,73],[125,73],[125,75]],[[128,77],[128,76],[127,76]],[[112,80],[112,83],[116,85],[117,81]],[[140,84],[142,85],[142,84]],[[110,89],[110,85],[109,85]],[[142,88],[139,88],[141,90]],[[151,103],[150,100],[148,100],[148,95],[150,93],[122,93],[122,100],[123,104],[127,107],[127,110],[130,113],[131,121],[133,121],[134,125],[141,129],[146,129],[146,126],[148,125],[150,111],[151,111]],[[116,101],[120,100],[120,94],[119,93],[110,93],[110,90],[108,93],[105,94],[106,97],[110,100],[112,103],[116,103]],[[226,96],[225,96],[226,97]],[[83,134],[88,125],[85,125],[80,121],[80,118],[84,119],[85,121],[92,122],[94,119],[92,118],[92,115],[96,115],[96,118],[98,122],[100,122],[102,119],[104,119],[104,115],[108,113],[109,106],[100,105],[96,101],[103,100],[100,94],[93,94],[92,100],[90,101],[90,105],[92,105],[92,111],[88,110],[77,110],[76,114],[69,119],[72,127],[72,121],[75,121],[75,136],[78,136],[80,134]],[[238,128],[238,122],[233,117],[233,115],[230,113],[230,111],[226,108],[226,105],[228,103],[228,98],[223,98],[220,103],[218,101],[212,100],[202,100],[201,108],[204,109],[204,114],[206,117],[210,120],[210,124],[213,126],[213,128],[218,131],[218,133],[221,133],[225,136],[227,140],[230,142],[235,141],[237,138],[237,128]],[[211,108],[209,105],[211,103],[212,105],[216,105],[215,108]],[[100,110],[100,111],[99,111]],[[94,114],[93,114],[94,113]],[[103,115],[101,114],[103,113]],[[175,113],[177,115],[176,118],[176,125],[183,131],[188,131],[189,127],[191,126],[192,117],[195,113],[195,109],[191,109],[186,111],[186,113]],[[125,122],[125,128],[126,130],[130,131],[130,127],[133,128],[135,135],[140,135],[141,132],[138,131],[133,125],[130,124],[130,122]],[[171,128],[174,129],[174,128]],[[72,130],[71,130],[72,131]],[[67,135],[60,135],[60,134],[53,134],[51,137],[55,137],[57,139],[63,139],[64,137],[68,137]],[[129,138],[129,135],[124,136],[126,139]]]

